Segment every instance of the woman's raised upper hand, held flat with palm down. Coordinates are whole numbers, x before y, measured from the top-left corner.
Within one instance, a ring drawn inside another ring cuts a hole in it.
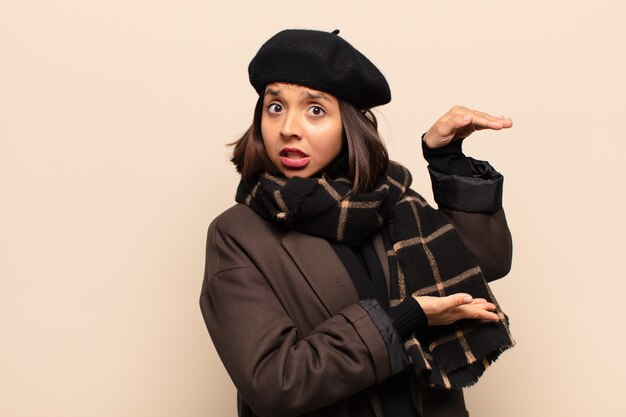
[[[510,117],[492,116],[464,106],[454,106],[441,116],[424,135],[429,148],[441,148],[454,140],[465,139],[477,130],[508,129],[513,126]]]

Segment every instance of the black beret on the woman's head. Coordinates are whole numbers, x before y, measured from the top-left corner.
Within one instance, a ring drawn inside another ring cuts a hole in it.
[[[389,103],[384,75],[338,33],[303,29],[277,33],[250,62],[250,83],[259,95],[270,83],[287,82],[330,93],[359,109]]]

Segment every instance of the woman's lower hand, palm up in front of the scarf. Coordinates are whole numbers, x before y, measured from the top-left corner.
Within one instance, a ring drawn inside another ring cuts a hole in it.
[[[496,322],[496,306],[484,298],[472,298],[465,293],[446,297],[413,296],[428,318],[429,326],[452,324],[461,319],[487,320]]]

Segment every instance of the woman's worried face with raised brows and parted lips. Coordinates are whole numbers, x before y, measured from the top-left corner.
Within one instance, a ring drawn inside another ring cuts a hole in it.
[[[295,84],[265,87],[261,134],[270,160],[287,178],[307,178],[341,152],[339,102],[328,93]]]

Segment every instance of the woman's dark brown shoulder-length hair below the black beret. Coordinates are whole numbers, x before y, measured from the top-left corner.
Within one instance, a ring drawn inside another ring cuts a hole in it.
[[[389,155],[378,134],[376,117],[370,110],[361,111],[350,103],[337,100],[343,124],[343,144],[341,153],[329,167],[333,171],[348,169],[353,192],[371,190],[389,165]],[[242,178],[248,181],[254,180],[264,171],[272,174],[280,173],[270,161],[263,145],[262,114],[263,97],[260,96],[254,108],[252,125],[241,138],[229,144],[234,146],[231,161]]]

